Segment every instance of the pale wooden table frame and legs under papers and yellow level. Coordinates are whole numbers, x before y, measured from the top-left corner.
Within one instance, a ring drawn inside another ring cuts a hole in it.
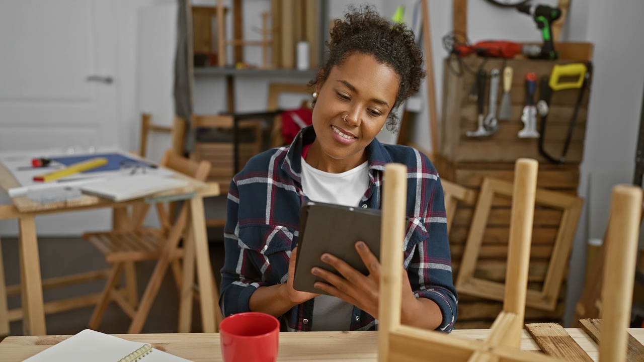
[[[218,184],[205,184],[182,174],[175,174],[177,178],[188,181],[188,185],[179,189],[158,193],[126,202],[111,202],[96,196],[83,195],[75,200],[66,200],[51,204],[39,204],[26,197],[12,198],[13,205],[0,205],[0,220],[16,218],[19,220],[19,252],[21,264],[21,282],[23,290],[21,303],[23,308],[24,334],[45,335],[45,310],[43,303],[43,280],[41,279],[40,259],[38,253],[38,241],[36,235],[35,216],[42,214],[63,213],[97,209],[108,207],[114,210],[113,223],[127,224],[127,207],[144,202],[155,202],[164,200],[167,197],[179,197],[183,195],[189,203],[189,235],[194,240],[195,259],[194,263],[184,263],[184,273],[193,272],[185,270],[187,267],[194,267],[196,264],[197,278],[199,284],[199,296],[202,314],[202,327],[204,332],[216,331],[215,308],[218,308],[214,301],[213,274],[210,264],[208,240],[205,228],[204,197],[217,196],[220,194]],[[21,186],[14,176],[0,162],[0,187],[7,191],[12,187]],[[0,254],[0,271],[1,268]],[[194,274],[190,274],[194,275]],[[9,321],[6,307],[6,292],[4,274],[0,272],[0,335],[9,334]],[[147,293],[146,293],[147,294]],[[144,298],[146,295],[144,294]],[[154,298],[154,296],[151,296]],[[180,332],[189,332],[192,313],[192,301],[181,298],[179,310]],[[133,323],[142,322],[147,316],[137,314]],[[143,319],[143,320],[142,320]],[[187,330],[186,330],[187,329]]]

